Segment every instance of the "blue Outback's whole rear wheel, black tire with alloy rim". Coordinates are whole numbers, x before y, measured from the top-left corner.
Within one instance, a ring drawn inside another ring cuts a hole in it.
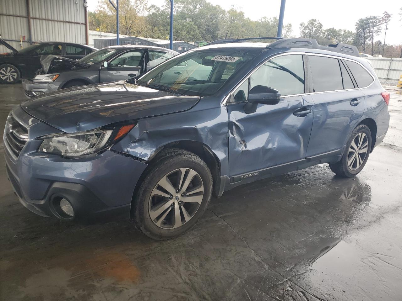
[[[368,126],[357,126],[349,137],[342,159],[330,163],[330,169],[344,178],[354,177],[361,172],[369,159],[371,150],[371,131]]]

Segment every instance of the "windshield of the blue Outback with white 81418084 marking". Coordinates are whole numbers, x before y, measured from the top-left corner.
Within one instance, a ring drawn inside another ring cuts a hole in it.
[[[207,48],[188,51],[145,73],[137,84],[176,94],[209,96],[261,49]]]

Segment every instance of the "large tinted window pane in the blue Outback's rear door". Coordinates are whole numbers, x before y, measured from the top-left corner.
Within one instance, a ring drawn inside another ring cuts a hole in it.
[[[338,59],[309,55],[309,61],[314,92],[343,89]]]

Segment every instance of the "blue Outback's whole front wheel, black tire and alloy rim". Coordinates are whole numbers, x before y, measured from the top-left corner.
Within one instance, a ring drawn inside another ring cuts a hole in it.
[[[212,176],[197,155],[179,148],[158,154],[133,200],[137,228],[166,240],[192,228],[212,195]]]

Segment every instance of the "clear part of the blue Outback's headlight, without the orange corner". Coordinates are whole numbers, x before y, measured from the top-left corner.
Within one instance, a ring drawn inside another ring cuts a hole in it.
[[[39,151],[68,157],[96,153],[106,145],[112,132],[113,130],[95,130],[45,136]]]

